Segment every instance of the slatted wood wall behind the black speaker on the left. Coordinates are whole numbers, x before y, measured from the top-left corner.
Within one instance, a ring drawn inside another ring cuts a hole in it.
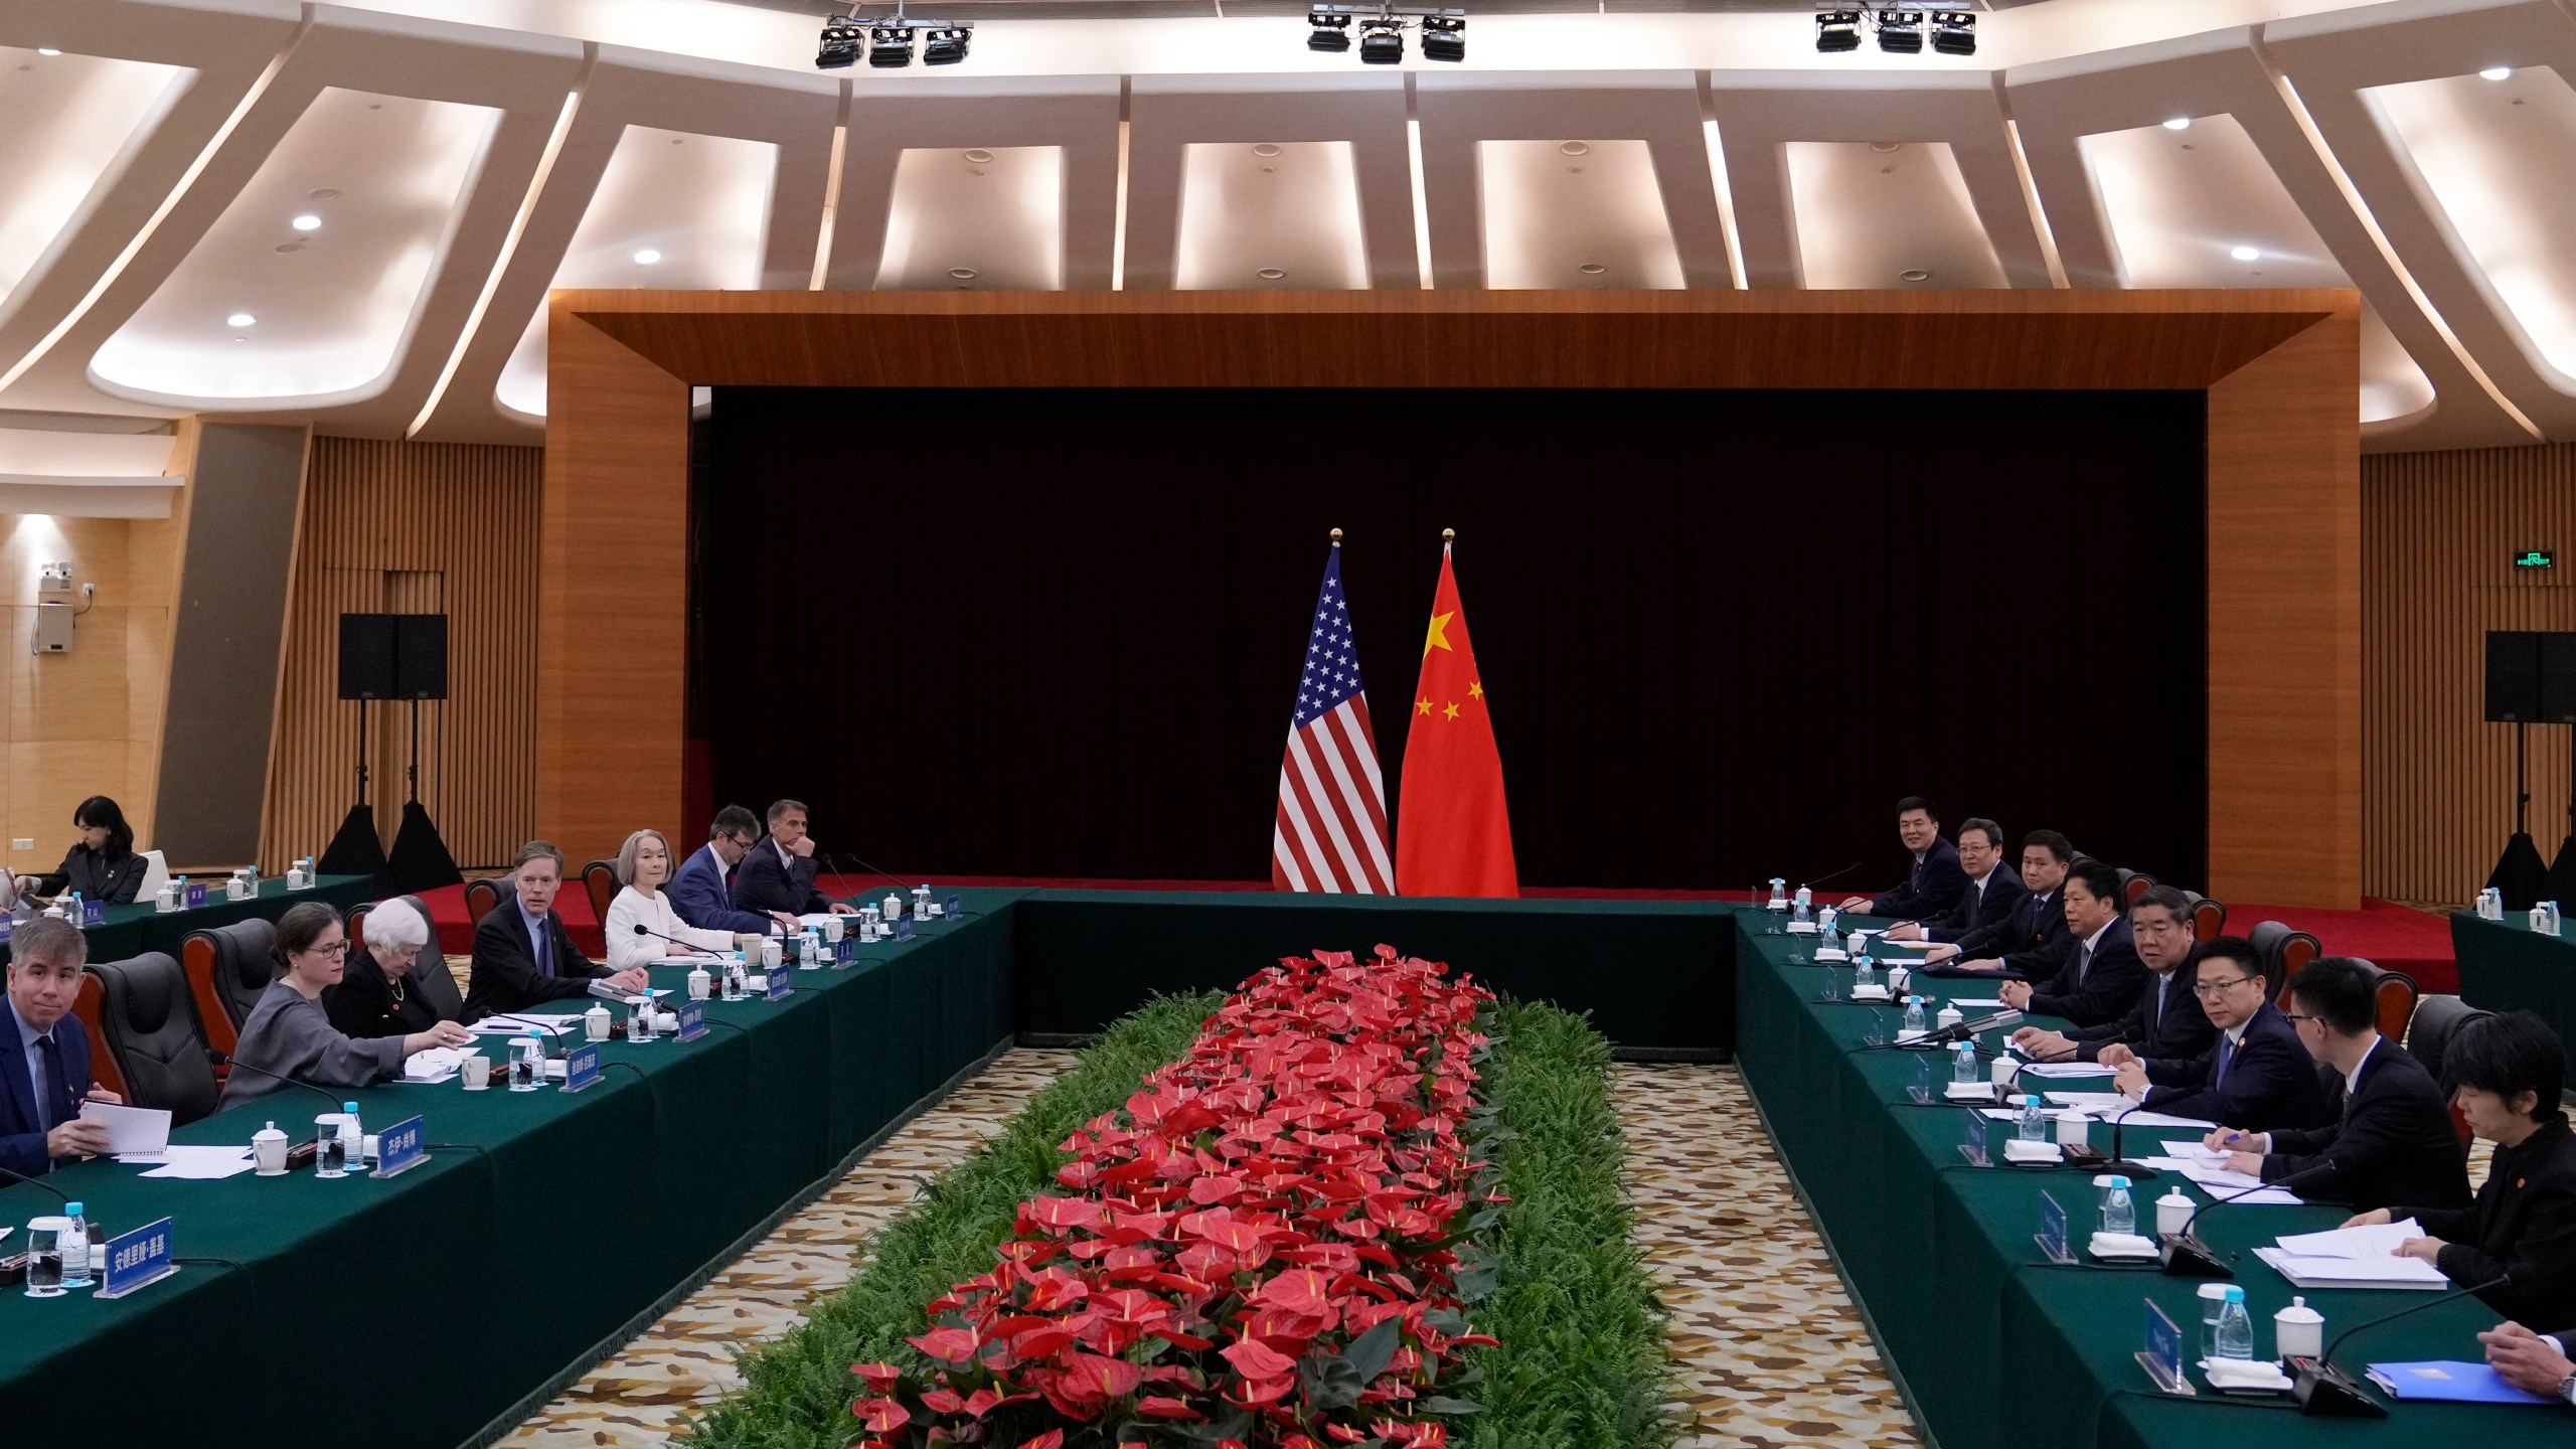
[[[544,449],[314,438],[260,869],[319,853],[355,799],[340,614],[448,614],[448,699],[420,706],[420,799],[466,869],[505,864],[533,833],[544,467]],[[386,846],[402,825],[410,727],[407,704],[368,706],[368,799]]]

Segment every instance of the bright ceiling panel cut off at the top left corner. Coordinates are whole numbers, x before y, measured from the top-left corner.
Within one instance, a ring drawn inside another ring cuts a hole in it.
[[[188,75],[0,46],[0,312]]]

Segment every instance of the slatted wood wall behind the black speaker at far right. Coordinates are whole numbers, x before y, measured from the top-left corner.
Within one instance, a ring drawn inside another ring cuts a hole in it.
[[[2558,567],[2512,567],[2522,549]],[[2488,629],[2576,629],[2576,446],[2362,459],[2370,895],[2465,902],[2514,828],[2514,727],[2483,722]],[[2543,859],[2568,835],[2568,735],[2530,730]]]

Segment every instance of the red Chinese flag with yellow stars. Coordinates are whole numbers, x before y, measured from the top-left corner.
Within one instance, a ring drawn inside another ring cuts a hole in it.
[[[1409,719],[1396,799],[1396,895],[1520,895],[1502,750],[1448,544],[1440,547],[1440,590]]]

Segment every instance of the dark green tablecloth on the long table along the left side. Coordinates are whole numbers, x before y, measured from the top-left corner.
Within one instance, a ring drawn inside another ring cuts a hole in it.
[[[430,1160],[389,1181],[57,1173],[111,1232],[170,1214],[196,1261],[116,1302],[0,1294],[0,1441],[477,1436],[1010,1039],[1020,892],[961,895],[981,915],[796,972],[781,1003],[711,1003],[698,1042],[605,1044],[605,1078],[577,1096],[355,1091],[371,1129],[425,1116]],[[268,1119],[304,1137],[327,1109],[283,1088],[173,1137],[247,1142]],[[0,1222],[41,1212],[39,1189],[0,1191]]]

